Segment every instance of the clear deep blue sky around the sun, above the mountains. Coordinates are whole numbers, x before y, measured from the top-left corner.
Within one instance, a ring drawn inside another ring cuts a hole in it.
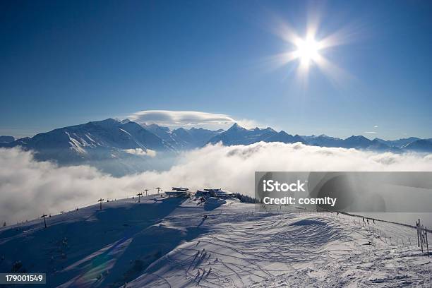
[[[315,65],[306,85],[296,61],[269,68],[292,49],[275,18],[302,36],[311,10],[317,38],[349,32],[323,51],[350,75],[337,85]],[[431,30],[430,1],[2,1],[0,134],[192,110],[302,135],[431,138]]]

